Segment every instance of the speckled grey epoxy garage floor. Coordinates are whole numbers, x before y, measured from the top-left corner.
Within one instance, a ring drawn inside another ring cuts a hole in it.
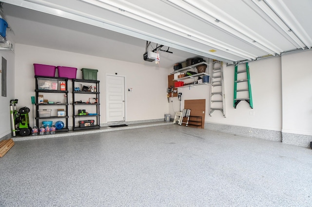
[[[1,207],[310,207],[312,150],[164,125],[16,141]]]

